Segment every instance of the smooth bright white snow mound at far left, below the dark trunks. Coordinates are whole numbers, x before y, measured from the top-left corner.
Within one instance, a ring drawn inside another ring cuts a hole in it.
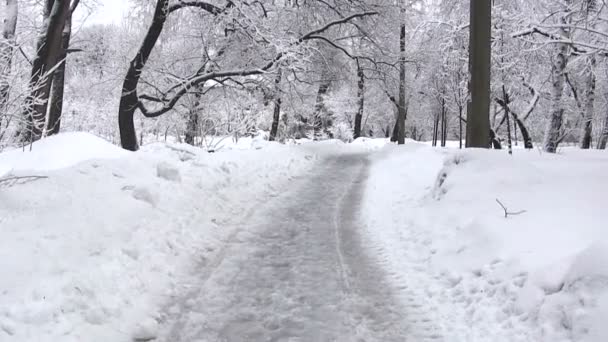
[[[86,160],[125,157],[129,152],[83,132],[57,134],[0,154],[0,176],[11,171],[48,171]]]

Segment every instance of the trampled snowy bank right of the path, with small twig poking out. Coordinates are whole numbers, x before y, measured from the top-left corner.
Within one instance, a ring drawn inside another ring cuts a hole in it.
[[[606,169],[597,151],[387,146],[363,219],[418,340],[607,341]]]

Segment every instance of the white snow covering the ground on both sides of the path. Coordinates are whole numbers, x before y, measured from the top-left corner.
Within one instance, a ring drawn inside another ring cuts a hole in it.
[[[158,337],[195,270],[340,153],[369,155],[361,239],[411,340],[608,340],[604,152],[263,135],[213,146],[133,153],[66,133],[0,153],[0,341]],[[1,181],[28,175],[47,178]]]

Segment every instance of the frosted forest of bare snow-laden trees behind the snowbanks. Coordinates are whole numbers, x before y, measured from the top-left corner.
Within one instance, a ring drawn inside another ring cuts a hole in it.
[[[130,150],[260,130],[466,139],[467,2],[130,1],[87,25],[99,5],[2,1],[0,146],[60,131]],[[605,7],[492,1],[494,147],[606,147]]]

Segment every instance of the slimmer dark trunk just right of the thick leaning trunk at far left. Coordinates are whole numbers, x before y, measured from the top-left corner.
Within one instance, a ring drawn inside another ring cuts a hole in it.
[[[53,75],[53,84],[51,86],[51,103],[48,111],[49,117],[46,126],[47,135],[57,134],[61,128],[63,93],[65,89],[65,68],[68,57],[67,51],[70,47],[70,39],[72,36],[72,13],[74,9],[75,7],[70,9],[70,13],[65,20],[63,33],[61,35],[61,50],[58,56],[58,61],[61,64],[57,67],[57,70],[55,70],[55,74]]]

